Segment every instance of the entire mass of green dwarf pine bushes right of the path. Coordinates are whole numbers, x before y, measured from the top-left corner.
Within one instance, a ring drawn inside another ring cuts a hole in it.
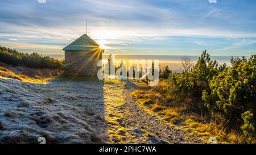
[[[218,66],[204,51],[191,71],[170,74],[166,90],[176,100],[190,98],[193,104],[187,104],[199,110],[196,112],[218,114],[228,128],[241,131],[248,142],[254,141],[256,55],[230,61],[229,68]]]

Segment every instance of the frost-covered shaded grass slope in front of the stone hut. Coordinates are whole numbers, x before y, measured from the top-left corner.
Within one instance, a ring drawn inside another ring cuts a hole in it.
[[[0,143],[109,143],[104,82],[94,79],[0,77],[0,118]]]

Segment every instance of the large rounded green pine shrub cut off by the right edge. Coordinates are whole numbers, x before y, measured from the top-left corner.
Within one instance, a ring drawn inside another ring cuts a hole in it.
[[[210,81],[210,91],[204,90],[202,99],[210,111],[229,122],[229,127],[254,132],[251,125],[255,123],[256,55],[249,60],[232,58],[231,62],[231,68],[224,69]]]

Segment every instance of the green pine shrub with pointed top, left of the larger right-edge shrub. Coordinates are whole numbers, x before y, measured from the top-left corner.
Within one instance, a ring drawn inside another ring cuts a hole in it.
[[[196,102],[202,102],[203,91],[209,91],[210,80],[223,68],[225,65],[218,68],[217,62],[210,60],[210,55],[204,51],[191,72],[184,70],[180,74],[170,75],[167,79],[167,92],[176,95],[179,99],[191,97]]]

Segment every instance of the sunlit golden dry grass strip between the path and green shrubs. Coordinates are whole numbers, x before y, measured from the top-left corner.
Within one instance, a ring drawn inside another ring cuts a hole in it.
[[[188,135],[205,139],[216,137],[219,143],[245,143],[243,135],[228,130],[226,122],[217,114],[213,118],[195,114],[192,112],[191,99],[176,102],[174,97],[165,93],[165,87],[166,82],[160,82],[158,86],[136,90],[132,95],[137,99],[139,106],[146,109],[149,114],[158,116],[171,125],[179,124],[177,128],[191,131],[187,132]]]

